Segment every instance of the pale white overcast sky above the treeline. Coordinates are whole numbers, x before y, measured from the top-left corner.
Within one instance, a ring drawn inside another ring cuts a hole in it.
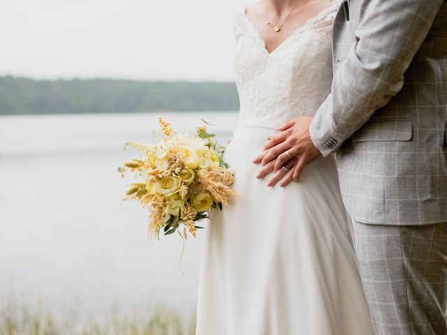
[[[233,80],[251,0],[0,0],[0,75]]]

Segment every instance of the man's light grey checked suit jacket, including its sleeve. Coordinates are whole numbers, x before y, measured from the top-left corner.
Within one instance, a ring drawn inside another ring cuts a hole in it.
[[[337,151],[358,222],[447,222],[447,3],[351,0],[333,29],[331,94],[311,124]]]

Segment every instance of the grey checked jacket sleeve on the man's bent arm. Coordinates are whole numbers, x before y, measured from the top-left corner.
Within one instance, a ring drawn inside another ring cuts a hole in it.
[[[323,156],[336,151],[402,89],[404,72],[443,0],[362,2],[367,6],[356,29],[356,42],[310,126],[312,142]]]

